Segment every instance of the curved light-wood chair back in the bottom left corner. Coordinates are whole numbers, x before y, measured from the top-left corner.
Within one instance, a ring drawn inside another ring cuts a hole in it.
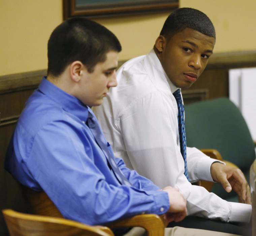
[[[19,213],[3,210],[10,236],[114,236],[104,226],[88,226],[58,217]]]

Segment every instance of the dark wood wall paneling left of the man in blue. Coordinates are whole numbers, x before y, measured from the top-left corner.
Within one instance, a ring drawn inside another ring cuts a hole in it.
[[[25,101],[37,88],[46,70],[0,77],[0,209],[25,211],[17,182],[4,170],[5,152]],[[8,235],[0,214],[0,235]]]

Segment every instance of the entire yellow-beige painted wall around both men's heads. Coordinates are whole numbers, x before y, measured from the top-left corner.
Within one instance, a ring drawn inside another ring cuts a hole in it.
[[[255,0],[180,0],[180,7],[205,12],[213,21],[215,52],[256,50]],[[146,54],[169,12],[96,19],[123,46],[120,60]],[[62,22],[62,0],[0,1],[0,76],[46,69],[47,40]]]

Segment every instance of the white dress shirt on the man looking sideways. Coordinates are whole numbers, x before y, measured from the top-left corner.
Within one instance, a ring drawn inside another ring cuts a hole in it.
[[[110,89],[103,104],[94,107],[115,156],[159,187],[178,188],[187,199],[189,215],[249,222],[251,205],[227,202],[203,187],[191,185],[185,177],[178,108],[172,95],[178,88],[168,79],[154,50],[123,64],[117,71],[117,81],[118,86]],[[195,147],[187,147],[191,182],[213,181],[210,167],[215,161]]]

